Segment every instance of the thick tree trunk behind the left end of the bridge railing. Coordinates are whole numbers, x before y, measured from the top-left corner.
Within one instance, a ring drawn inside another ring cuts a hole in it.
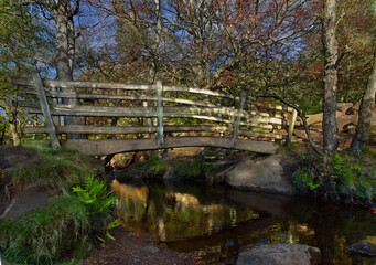
[[[56,22],[56,71],[57,77],[61,81],[73,80],[73,62],[75,55],[75,30],[69,0],[60,0],[53,8]],[[62,88],[67,91],[67,88]],[[74,91],[75,92],[75,91]],[[79,102],[75,98],[64,98],[64,104],[78,105]],[[85,125],[85,117],[64,117],[65,125]],[[85,139],[85,135],[67,135],[68,139]]]

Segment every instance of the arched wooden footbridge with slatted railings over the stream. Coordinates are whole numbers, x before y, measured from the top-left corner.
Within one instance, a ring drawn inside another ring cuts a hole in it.
[[[292,108],[255,102],[245,94],[161,82],[62,82],[37,74],[12,82],[29,95],[20,106],[36,115],[36,126],[25,127],[25,134],[49,134],[54,148],[63,145],[88,155],[198,146],[273,153],[277,144],[291,138],[296,119]],[[62,98],[80,104],[64,105]],[[86,125],[63,125],[57,118],[62,116],[84,116]],[[88,139],[67,140],[66,134],[85,134]]]

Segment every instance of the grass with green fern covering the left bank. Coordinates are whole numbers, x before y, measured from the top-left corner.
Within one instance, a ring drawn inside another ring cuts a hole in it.
[[[108,231],[118,224],[109,214],[110,187],[88,172],[97,163],[88,156],[55,151],[46,145],[28,147],[36,150],[37,158],[13,172],[13,184],[53,189],[64,195],[21,216],[0,219],[1,255],[12,263],[77,264],[97,239],[114,239]]]

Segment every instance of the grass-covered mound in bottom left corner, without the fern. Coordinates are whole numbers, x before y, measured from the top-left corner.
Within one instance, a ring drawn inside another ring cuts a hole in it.
[[[89,216],[77,197],[65,195],[29,214],[1,220],[1,254],[9,262],[28,264],[67,257],[73,245],[88,243]]]

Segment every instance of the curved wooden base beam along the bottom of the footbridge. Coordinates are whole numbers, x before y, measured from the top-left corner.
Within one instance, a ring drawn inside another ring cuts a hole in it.
[[[153,139],[130,140],[65,140],[63,146],[79,150],[90,156],[112,155],[126,151],[142,151],[160,149]],[[232,139],[223,137],[165,137],[163,148],[178,147],[217,147],[232,148]],[[234,149],[255,151],[259,153],[275,153],[278,145],[269,141],[238,139]]]

